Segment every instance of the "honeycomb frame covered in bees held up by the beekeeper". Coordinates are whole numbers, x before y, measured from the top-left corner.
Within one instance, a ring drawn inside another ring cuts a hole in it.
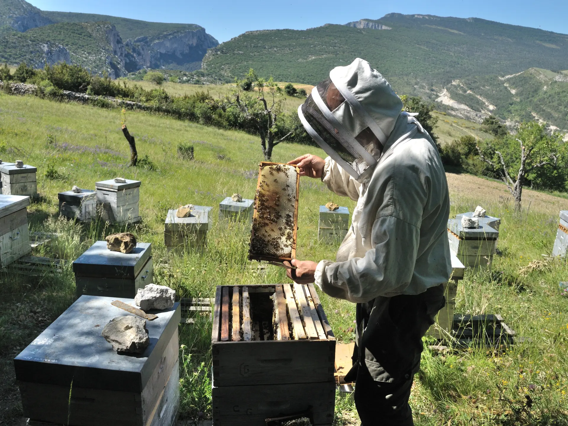
[[[295,258],[299,185],[295,166],[260,163],[249,260],[282,262]]]

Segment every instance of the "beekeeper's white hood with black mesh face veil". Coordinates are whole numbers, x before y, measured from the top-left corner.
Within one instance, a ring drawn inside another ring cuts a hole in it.
[[[389,82],[357,58],[319,83],[298,115],[316,143],[357,181],[373,172],[402,101]]]

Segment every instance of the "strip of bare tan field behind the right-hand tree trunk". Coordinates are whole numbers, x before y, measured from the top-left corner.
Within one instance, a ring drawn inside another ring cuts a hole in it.
[[[450,196],[479,199],[479,202],[505,202],[514,200],[507,186],[498,181],[482,179],[470,174],[446,173]],[[568,199],[523,188],[523,208],[531,203],[531,210],[558,215],[560,210],[568,210]]]

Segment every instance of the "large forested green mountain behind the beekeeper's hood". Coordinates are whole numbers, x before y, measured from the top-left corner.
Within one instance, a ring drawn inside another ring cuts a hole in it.
[[[482,19],[387,15],[378,22],[392,30],[327,25],[247,32],[212,49],[204,68],[239,76],[252,67],[277,80],[315,84],[358,56],[403,93],[427,92],[458,77],[568,68],[568,36],[562,34]]]

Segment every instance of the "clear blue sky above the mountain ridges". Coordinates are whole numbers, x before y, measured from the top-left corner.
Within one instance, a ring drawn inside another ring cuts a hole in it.
[[[568,2],[565,0],[554,2],[553,7],[551,3],[536,3],[534,0],[281,0],[255,3],[235,0],[31,0],[30,3],[43,10],[199,24],[220,42],[245,31],[274,28],[305,30],[325,23],[378,19],[389,12],[476,17],[568,34]]]

